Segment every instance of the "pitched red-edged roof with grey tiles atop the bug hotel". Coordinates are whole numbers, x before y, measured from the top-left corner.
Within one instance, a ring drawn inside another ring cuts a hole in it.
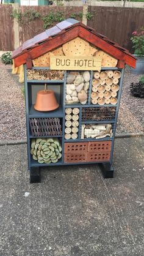
[[[136,59],[128,50],[72,18],[56,24],[14,50],[12,58],[15,59],[15,66],[26,63],[27,59],[35,59],[78,36],[123,61],[124,64],[135,67]]]

